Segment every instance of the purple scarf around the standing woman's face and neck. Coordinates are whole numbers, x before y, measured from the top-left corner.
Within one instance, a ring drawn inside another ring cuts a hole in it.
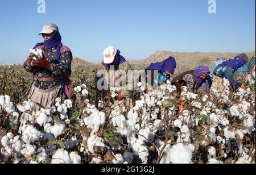
[[[56,52],[56,58],[57,61],[60,60],[60,48],[63,46],[61,43],[61,35],[59,31],[53,31],[53,35],[50,39],[44,41],[43,43],[38,43],[35,45],[34,49],[40,45],[45,45],[47,48],[53,48],[56,47],[57,52]]]

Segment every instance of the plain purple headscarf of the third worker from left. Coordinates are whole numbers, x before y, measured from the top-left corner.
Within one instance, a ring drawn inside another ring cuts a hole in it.
[[[167,70],[169,73],[174,74],[176,66],[177,64],[175,58],[170,56],[163,62],[152,63],[150,66],[148,66],[147,69],[158,70],[158,72],[160,72],[161,74],[164,74],[164,72],[166,72]]]

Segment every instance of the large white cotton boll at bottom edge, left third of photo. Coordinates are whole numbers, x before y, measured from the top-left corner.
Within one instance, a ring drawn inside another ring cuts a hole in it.
[[[52,156],[51,164],[70,164],[69,153],[63,149],[58,149]]]

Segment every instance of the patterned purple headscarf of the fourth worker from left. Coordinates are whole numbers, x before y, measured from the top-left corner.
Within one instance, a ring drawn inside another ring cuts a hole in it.
[[[195,79],[196,79],[196,84],[200,85],[202,82],[205,81],[205,89],[207,90],[207,93],[210,90],[210,79],[209,78],[205,78],[205,80],[200,79],[199,77],[203,74],[209,74],[210,73],[210,69],[207,68],[207,66],[199,66],[198,68],[196,68],[195,70]]]

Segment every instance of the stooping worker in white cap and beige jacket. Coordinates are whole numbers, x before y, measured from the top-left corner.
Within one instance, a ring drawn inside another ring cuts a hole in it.
[[[102,65],[106,71],[106,81],[110,90],[110,94],[116,92],[118,97],[117,103],[123,103],[127,107],[133,107],[131,95],[133,93],[133,72],[131,65],[126,61],[125,57],[120,55],[120,51],[113,46],[109,46],[104,50],[104,60]]]

